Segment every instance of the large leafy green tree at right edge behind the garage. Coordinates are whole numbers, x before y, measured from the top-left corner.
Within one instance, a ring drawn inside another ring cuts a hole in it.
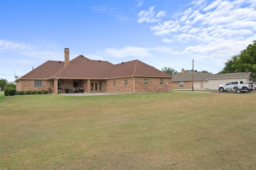
[[[225,63],[225,67],[219,73],[238,73],[252,71],[254,82],[256,81],[256,40],[249,44],[239,55],[234,55]]]

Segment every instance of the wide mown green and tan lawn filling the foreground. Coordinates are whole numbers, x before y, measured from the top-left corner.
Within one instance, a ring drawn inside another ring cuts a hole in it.
[[[0,95],[0,169],[256,169],[255,99]]]

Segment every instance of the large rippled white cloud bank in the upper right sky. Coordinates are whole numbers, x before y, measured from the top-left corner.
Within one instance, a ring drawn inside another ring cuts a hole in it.
[[[255,0],[194,0],[185,10],[174,14],[172,20],[162,22],[161,17],[156,18],[154,7],[142,10],[138,23],[158,22],[150,26],[150,30],[168,43],[168,40],[180,43],[208,43],[216,39],[235,41],[238,37],[245,40],[255,34],[255,8]]]

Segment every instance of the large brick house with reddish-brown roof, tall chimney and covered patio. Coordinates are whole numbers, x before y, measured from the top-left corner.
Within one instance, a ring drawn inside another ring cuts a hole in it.
[[[91,60],[83,55],[69,61],[69,49],[64,49],[65,61],[46,61],[16,80],[18,91],[47,90],[65,93],[67,87],[80,92],[163,92],[171,91],[172,76],[139,60],[112,64]],[[50,90],[49,90],[50,89]]]

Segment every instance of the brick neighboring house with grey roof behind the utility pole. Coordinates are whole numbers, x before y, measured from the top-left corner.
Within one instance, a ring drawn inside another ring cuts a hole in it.
[[[192,80],[194,88],[208,89],[208,78],[211,77],[212,73],[197,73],[191,70],[181,69],[181,72],[174,75],[172,78],[173,88],[192,88]]]

